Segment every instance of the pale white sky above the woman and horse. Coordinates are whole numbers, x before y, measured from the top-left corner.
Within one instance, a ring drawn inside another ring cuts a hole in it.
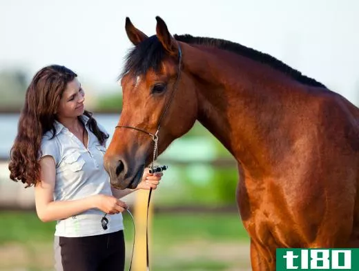
[[[356,0],[0,0],[0,72],[21,68],[32,76],[57,63],[93,92],[119,90],[116,79],[132,47],[126,17],[151,36],[159,16],[172,34],[269,53],[356,102],[358,12]]]

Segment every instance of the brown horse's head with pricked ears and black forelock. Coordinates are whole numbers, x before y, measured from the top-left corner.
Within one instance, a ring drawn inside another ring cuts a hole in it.
[[[128,39],[135,48],[122,73],[123,110],[104,158],[110,182],[117,188],[135,188],[141,181],[153,159],[151,134],[158,130],[160,154],[197,118],[195,83],[181,72],[184,44],[171,36],[161,18],[156,20],[156,34],[147,37],[126,18]]]

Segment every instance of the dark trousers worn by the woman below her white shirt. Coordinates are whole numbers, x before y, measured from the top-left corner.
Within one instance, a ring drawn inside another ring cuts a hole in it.
[[[90,237],[59,237],[64,271],[124,270],[124,231]]]

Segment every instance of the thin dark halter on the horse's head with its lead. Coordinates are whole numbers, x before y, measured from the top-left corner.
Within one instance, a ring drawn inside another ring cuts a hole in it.
[[[152,137],[152,140],[155,143],[155,145],[153,146],[153,161],[152,161],[151,165],[149,166],[150,173],[161,172],[162,170],[167,169],[166,165],[163,165],[162,167],[155,167],[154,163],[155,163],[155,161],[157,159],[157,156],[158,156],[157,143],[158,143],[159,128],[161,128],[162,121],[164,120],[164,117],[166,116],[166,112],[167,112],[169,106],[171,105],[171,103],[173,101],[173,97],[175,96],[175,91],[177,90],[177,83],[179,81],[179,74],[181,73],[182,50],[179,47],[178,43],[177,43],[177,46],[178,46],[178,57],[179,57],[177,79],[175,81],[175,84],[173,85],[171,96],[170,96],[170,99],[169,99],[168,103],[166,104],[166,108],[164,108],[164,111],[162,112],[161,118],[159,119],[156,132],[153,134],[151,132],[147,132],[146,130],[143,130],[143,129],[137,128],[137,127],[133,127],[133,126],[115,126],[115,129],[116,128],[133,129],[133,130],[137,130],[139,132],[144,132],[145,134],[148,134],[149,136]],[[148,194],[148,201],[147,201],[147,225],[148,225],[148,210],[149,210],[149,207],[150,207],[151,193],[152,193],[152,188],[150,189],[150,192]],[[127,210],[127,212],[130,214],[130,217],[132,218],[132,221],[133,221],[132,214],[128,210]],[[104,217],[103,219],[106,219],[106,217]],[[106,225],[107,225],[107,223],[106,223]],[[135,242],[135,223],[134,223],[134,221],[133,221],[133,229],[134,229],[134,231],[133,231],[134,232],[133,241]],[[133,248],[132,249],[134,249],[134,246],[135,246],[135,243],[133,243]],[[132,260],[133,260],[133,250],[132,250],[132,256],[131,256],[131,260],[130,260],[129,270],[131,270],[131,268],[132,268]],[[149,257],[148,257],[148,226],[146,227],[146,265],[147,265],[146,270],[149,271],[150,270],[150,264],[149,264]]]

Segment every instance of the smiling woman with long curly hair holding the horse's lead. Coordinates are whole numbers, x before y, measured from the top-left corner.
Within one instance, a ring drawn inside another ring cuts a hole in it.
[[[118,198],[133,190],[111,187],[103,167],[108,134],[84,101],[72,70],[54,65],[35,74],[11,149],[10,178],[35,185],[39,219],[57,221],[57,270],[124,270],[127,205]],[[145,172],[137,189],[155,189],[161,177]],[[110,215],[103,226],[104,214]]]

